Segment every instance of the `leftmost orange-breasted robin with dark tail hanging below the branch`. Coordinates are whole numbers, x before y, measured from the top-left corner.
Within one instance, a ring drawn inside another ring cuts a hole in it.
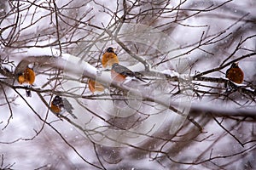
[[[33,69],[29,68],[28,66],[26,66],[25,71],[18,74],[18,82],[20,84],[28,83],[29,84],[28,88],[31,88],[32,83],[35,82],[35,79],[36,79],[35,71],[33,71]],[[26,90],[26,96],[27,97],[32,96],[30,90]]]

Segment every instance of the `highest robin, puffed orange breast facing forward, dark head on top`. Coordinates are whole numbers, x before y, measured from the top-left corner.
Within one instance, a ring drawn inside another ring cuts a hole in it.
[[[112,47],[107,48],[106,52],[102,55],[103,68],[111,68],[114,63],[119,63],[117,54],[114,53]]]

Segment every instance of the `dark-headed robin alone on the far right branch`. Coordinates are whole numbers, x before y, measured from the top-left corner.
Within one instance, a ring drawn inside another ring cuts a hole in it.
[[[226,71],[226,77],[232,81],[240,84],[243,82],[243,71],[239,68],[238,63],[233,63],[230,68]]]

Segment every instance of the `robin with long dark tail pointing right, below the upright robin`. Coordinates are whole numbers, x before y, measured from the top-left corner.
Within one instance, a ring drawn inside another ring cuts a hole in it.
[[[111,77],[117,82],[124,82],[126,77],[136,77],[140,81],[145,82],[141,77],[138,77],[135,72],[131,71],[123,65],[119,65],[118,63],[114,63],[112,65]]]

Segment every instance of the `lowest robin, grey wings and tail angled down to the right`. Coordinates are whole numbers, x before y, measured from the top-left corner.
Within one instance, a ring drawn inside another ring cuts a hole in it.
[[[73,116],[74,119],[78,117],[73,114],[73,106],[68,102],[67,99],[62,99],[60,96],[56,95],[55,98],[50,103],[50,108],[56,114],[62,114],[65,111]]]

